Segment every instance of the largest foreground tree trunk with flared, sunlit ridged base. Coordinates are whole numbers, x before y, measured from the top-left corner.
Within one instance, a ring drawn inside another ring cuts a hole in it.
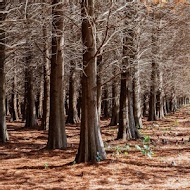
[[[106,158],[100,134],[97,110],[97,63],[95,27],[93,23],[94,1],[82,0],[82,40],[84,73],[82,77],[82,118],[80,144],[76,162],[97,162]],[[88,15],[88,17],[87,17]]]

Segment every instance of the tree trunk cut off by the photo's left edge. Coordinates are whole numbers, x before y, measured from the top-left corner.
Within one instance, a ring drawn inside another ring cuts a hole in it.
[[[5,20],[5,15],[2,13],[5,10],[5,1],[0,2],[0,21]],[[0,29],[0,142],[4,143],[8,140],[5,117],[5,31]]]

